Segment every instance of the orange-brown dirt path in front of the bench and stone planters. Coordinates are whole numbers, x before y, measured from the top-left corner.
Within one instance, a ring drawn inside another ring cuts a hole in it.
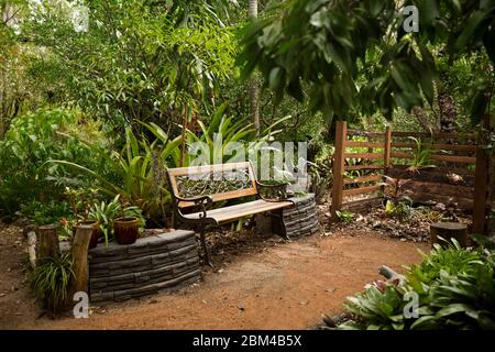
[[[92,307],[89,319],[51,320],[36,319],[22,284],[22,252],[0,244],[0,329],[305,329],[341,311],[348,295],[380,277],[380,265],[400,270],[420,261],[418,248],[427,250],[362,231],[315,235],[237,256],[178,293]],[[12,253],[18,260],[6,260]]]

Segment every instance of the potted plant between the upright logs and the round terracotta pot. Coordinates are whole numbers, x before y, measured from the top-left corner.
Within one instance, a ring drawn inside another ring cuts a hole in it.
[[[65,194],[68,196],[70,200],[70,205],[73,207],[73,212],[75,217],[75,223],[73,224],[73,237],[76,234],[77,228],[80,226],[92,226],[94,230],[91,233],[91,239],[89,241],[89,249],[94,249],[98,245],[98,240],[101,235],[100,222],[97,219],[89,219],[89,210],[87,205],[89,201],[94,199],[97,190],[90,189],[90,195],[88,198],[85,196],[85,191],[80,189],[72,189],[69,187],[65,188]],[[82,210],[82,215],[80,215],[79,210]],[[66,220],[67,221],[67,220]]]

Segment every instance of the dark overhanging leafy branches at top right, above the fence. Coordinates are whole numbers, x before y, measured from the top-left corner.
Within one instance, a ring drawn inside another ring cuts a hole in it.
[[[403,8],[419,10],[420,31],[406,33]],[[331,119],[377,111],[392,119],[400,107],[430,105],[438,67],[465,53],[487,55],[492,70],[473,69],[472,118],[493,95],[493,1],[293,0],[246,29],[243,76],[257,67],[278,99],[288,94]],[[300,59],[304,57],[304,59]]]

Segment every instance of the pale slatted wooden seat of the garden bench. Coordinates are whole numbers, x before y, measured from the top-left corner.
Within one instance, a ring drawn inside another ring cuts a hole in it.
[[[207,211],[207,219],[212,219],[216,223],[227,223],[232,220],[248,217],[255,213],[272,211],[276,209],[287,208],[293,206],[292,201],[266,201],[263,199],[243,202],[235,206],[223,207]],[[198,220],[202,216],[202,211],[184,215],[190,220]]]

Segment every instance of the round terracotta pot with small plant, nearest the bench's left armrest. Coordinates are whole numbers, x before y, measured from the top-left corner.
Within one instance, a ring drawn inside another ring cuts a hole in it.
[[[121,217],[113,221],[113,231],[117,243],[134,243],[138,240],[139,230],[143,224],[144,218],[140,208],[122,206]]]

